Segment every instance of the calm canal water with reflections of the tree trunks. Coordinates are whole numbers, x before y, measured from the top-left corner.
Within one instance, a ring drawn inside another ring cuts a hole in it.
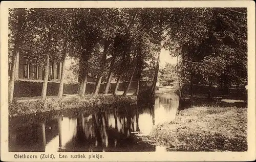
[[[113,107],[96,113],[29,115],[9,121],[9,151],[165,151],[142,142],[154,125],[175,118],[178,97],[157,95],[155,103]]]

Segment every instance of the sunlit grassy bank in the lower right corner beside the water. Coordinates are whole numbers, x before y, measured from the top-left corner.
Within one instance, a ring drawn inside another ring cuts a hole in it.
[[[247,151],[247,108],[192,106],[150,135],[169,151]]]

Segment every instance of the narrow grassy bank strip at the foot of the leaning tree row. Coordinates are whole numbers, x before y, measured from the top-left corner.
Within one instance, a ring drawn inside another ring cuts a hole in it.
[[[69,97],[69,98],[50,98],[47,100],[37,101],[14,101],[9,105],[9,117],[16,117],[25,114],[47,112],[54,110],[67,110],[67,109],[89,109],[93,107],[100,107],[100,105],[111,105],[111,104],[125,104],[131,102],[128,97],[122,96],[107,96],[98,95],[92,97],[86,95],[84,97]]]

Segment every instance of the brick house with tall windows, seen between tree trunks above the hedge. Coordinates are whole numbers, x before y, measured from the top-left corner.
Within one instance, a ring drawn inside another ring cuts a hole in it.
[[[12,57],[9,56],[9,77],[11,74]],[[51,60],[49,62],[49,82],[59,83],[61,75],[61,62]],[[15,80],[43,82],[45,77],[44,64],[35,58],[30,58],[25,54],[18,54],[15,66]]]

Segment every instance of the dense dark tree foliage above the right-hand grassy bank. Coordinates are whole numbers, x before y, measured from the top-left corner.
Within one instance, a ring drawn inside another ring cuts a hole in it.
[[[180,21],[189,20],[188,24],[195,28],[182,25],[183,30],[171,31],[178,38],[169,36],[165,42],[165,48],[180,58],[179,76],[183,83],[189,83],[190,89],[193,84],[220,86],[224,94],[231,84],[244,87],[247,84],[246,9],[194,8],[186,12],[194,18],[185,16]]]

